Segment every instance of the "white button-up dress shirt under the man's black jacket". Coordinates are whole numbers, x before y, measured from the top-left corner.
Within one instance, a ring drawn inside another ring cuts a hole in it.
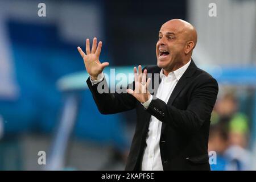
[[[158,90],[156,91],[156,97],[164,102],[168,102],[172,91],[174,90],[180,77],[188,68],[191,60],[183,67],[171,72],[166,77],[163,74],[163,69],[160,71],[161,82],[159,84]],[[144,102],[142,105],[147,109],[152,101],[152,95],[150,99]],[[142,158],[142,171],[163,171],[163,165],[160,155],[160,135],[161,135],[162,122],[160,122],[156,117],[151,115],[150,124],[148,127],[148,134],[146,138],[146,148],[144,149]]]

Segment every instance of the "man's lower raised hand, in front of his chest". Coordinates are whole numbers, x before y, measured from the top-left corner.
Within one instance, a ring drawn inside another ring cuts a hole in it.
[[[148,85],[150,84],[150,78],[147,79],[147,69],[144,69],[142,73],[141,65],[139,65],[139,75],[137,74],[137,68],[134,67],[134,81],[135,89],[127,89],[127,93],[133,95],[141,103],[146,102],[150,98],[148,92]]]

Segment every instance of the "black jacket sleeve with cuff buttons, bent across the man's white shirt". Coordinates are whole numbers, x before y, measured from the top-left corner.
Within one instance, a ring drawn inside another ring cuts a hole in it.
[[[218,94],[217,81],[210,77],[202,81],[191,94],[186,110],[167,105],[159,98],[153,98],[147,111],[175,129],[195,133],[210,118]],[[161,112],[160,112],[161,111]]]

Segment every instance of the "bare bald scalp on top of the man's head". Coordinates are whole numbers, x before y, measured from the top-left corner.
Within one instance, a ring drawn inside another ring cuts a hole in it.
[[[168,22],[164,23],[161,28],[169,28],[170,30],[176,30],[181,35],[184,36],[184,39],[189,42],[192,41],[196,47],[197,43],[197,32],[196,28],[192,24],[182,20],[182,19],[171,19]]]

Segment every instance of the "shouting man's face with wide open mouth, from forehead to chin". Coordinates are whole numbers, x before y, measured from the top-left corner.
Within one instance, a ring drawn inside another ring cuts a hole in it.
[[[185,41],[182,30],[172,24],[163,24],[159,31],[159,39],[156,43],[156,57],[158,67],[172,71],[174,65],[182,61]]]

